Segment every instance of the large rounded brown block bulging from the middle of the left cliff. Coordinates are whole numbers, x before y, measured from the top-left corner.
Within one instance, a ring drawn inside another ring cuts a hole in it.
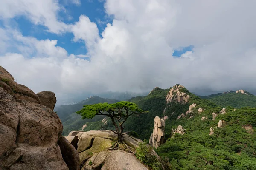
[[[43,105],[22,100],[17,102],[20,114],[17,133],[18,143],[28,143],[31,146],[45,145],[49,142],[57,143],[62,125],[58,115]]]

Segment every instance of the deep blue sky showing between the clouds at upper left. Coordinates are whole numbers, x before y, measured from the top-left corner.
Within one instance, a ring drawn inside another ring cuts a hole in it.
[[[67,24],[75,23],[81,15],[86,15],[90,20],[97,24],[99,32],[104,31],[107,23],[112,23],[111,16],[105,14],[104,2],[99,0],[83,0],[80,5],[65,3],[64,0],[59,1],[65,7],[65,11],[60,11],[58,17],[61,21]],[[38,40],[58,40],[58,46],[66,49],[69,54],[86,54],[87,49],[84,43],[74,42],[73,34],[66,32],[63,34],[54,34],[47,32],[47,28],[41,25],[35,25],[25,16],[17,16],[13,19],[17,22],[17,26],[23,36],[32,36]]]

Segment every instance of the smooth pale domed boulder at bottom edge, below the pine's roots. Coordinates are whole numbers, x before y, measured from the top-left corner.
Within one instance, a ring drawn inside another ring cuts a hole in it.
[[[130,153],[114,150],[108,154],[101,170],[148,170],[148,168]]]

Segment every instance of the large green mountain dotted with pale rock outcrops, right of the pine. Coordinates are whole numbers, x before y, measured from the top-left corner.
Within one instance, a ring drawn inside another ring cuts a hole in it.
[[[227,94],[252,96],[245,93]],[[154,88],[147,96],[129,101],[149,111],[125,122],[125,131],[134,130],[142,140],[151,136],[154,117],[165,117],[165,142],[155,151],[172,170],[256,169],[256,108],[223,108],[182,85]],[[94,124],[104,125],[104,121],[90,122]]]

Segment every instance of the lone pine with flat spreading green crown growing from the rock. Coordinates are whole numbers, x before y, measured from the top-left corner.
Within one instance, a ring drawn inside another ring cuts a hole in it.
[[[82,116],[82,119],[92,119],[96,115],[104,115],[111,118],[116,131],[111,130],[118,136],[118,142],[125,144],[123,139],[123,126],[124,122],[129,116],[139,115],[141,113],[148,113],[148,111],[143,111],[139,109],[138,106],[131,102],[117,102],[114,104],[108,103],[98,103],[94,105],[84,105],[80,111],[76,112]]]

